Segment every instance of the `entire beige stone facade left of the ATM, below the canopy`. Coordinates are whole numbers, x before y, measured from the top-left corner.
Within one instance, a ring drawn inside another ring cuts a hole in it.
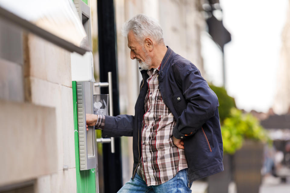
[[[37,193],[76,192],[70,52],[12,24],[0,28],[0,190],[28,183]]]

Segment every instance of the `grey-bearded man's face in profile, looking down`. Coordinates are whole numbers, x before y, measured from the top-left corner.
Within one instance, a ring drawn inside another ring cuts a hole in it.
[[[127,35],[128,37],[128,47],[131,49],[130,57],[132,60],[136,59],[139,65],[144,70],[151,69],[151,58],[146,51],[144,45],[140,45],[137,41],[134,33],[130,31]]]

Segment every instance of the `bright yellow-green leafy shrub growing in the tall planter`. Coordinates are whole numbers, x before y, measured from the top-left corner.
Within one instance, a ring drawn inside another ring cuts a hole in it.
[[[221,127],[224,152],[234,154],[243,145],[244,139],[261,141],[271,144],[266,130],[260,125],[259,120],[252,114],[243,114],[240,110],[232,108],[230,117],[224,119]]]

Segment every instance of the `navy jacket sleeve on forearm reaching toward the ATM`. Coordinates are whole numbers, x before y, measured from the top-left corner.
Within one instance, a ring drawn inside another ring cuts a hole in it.
[[[133,136],[133,115],[106,116],[102,137]]]

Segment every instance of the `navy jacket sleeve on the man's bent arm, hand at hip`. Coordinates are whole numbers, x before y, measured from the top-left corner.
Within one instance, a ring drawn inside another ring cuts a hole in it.
[[[187,102],[186,108],[176,120],[173,136],[181,139],[195,134],[202,125],[214,116],[218,107],[218,97],[201,77],[199,70],[192,63],[174,65],[176,83]]]

